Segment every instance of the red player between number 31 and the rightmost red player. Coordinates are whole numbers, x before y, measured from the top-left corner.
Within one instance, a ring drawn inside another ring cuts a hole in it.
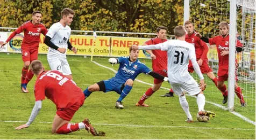
[[[187,31],[186,42],[191,43],[195,46],[196,59],[197,59],[198,65],[200,66],[201,72],[203,74],[206,74],[212,80],[212,82],[215,83],[216,87],[218,88],[217,77],[212,72],[212,69],[208,63],[207,53],[208,53],[209,49],[208,49],[207,44],[205,42],[203,42],[199,37],[196,36],[197,33],[194,30],[193,22],[188,20],[185,22],[184,25],[185,25],[185,29]],[[188,71],[190,73],[194,72],[194,68],[193,68],[191,61],[189,61]],[[227,94],[227,93],[222,92],[222,94],[224,96],[222,103],[225,104],[227,101],[225,99],[226,98],[225,94]]]

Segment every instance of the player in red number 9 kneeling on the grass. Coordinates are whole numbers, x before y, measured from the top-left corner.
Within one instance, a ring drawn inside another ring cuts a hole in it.
[[[82,90],[75,82],[58,71],[44,71],[41,61],[31,63],[31,71],[38,77],[34,86],[35,105],[26,124],[15,129],[27,128],[38,115],[42,100],[45,96],[56,105],[56,115],[53,119],[53,134],[68,134],[80,129],[86,129],[94,136],[103,136],[104,132],[97,132],[88,119],[80,123],[69,123],[73,115],[84,103]]]

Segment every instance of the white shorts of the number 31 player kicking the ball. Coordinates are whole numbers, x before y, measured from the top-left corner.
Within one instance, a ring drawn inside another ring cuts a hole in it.
[[[183,95],[183,91],[188,92],[189,95],[197,95],[201,92],[198,83],[191,77],[184,82],[170,82],[172,89],[177,96]]]

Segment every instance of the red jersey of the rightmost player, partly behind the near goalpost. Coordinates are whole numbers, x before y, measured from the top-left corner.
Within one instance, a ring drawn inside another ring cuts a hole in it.
[[[229,55],[221,56],[222,51],[229,51],[229,35],[225,38],[222,35],[209,38],[209,44],[216,44],[218,58],[219,58],[219,68],[229,68]],[[243,47],[243,44],[237,40],[236,47]]]

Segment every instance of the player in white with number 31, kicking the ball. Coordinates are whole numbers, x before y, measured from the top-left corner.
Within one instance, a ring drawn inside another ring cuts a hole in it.
[[[179,96],[181,107],[187,114],[186,122],[194,122],[189,112],[188,102],[185,92],[189,95],[197,96],[196,103],[198,105],[198,114],[214,117],[215,113],[204,111],[205,97],[201,90],[204,86],[204,77],[200,71],[200,67],[196,61],[196,53],[194,45],[185,41],[185,29],[183,26],[176,26],[174,34],[177,40],[169,40],[160,44],[136,46],[133,45],[133,50],[157,50],[167,51],[167,73],[170,85],[172,85],[174,93]],[[191,60],[195,72],[200,77],[200,84],[198,86],[194,78],[188,73],[188,64]],[[200,87],[200,88],[199,88]]]

